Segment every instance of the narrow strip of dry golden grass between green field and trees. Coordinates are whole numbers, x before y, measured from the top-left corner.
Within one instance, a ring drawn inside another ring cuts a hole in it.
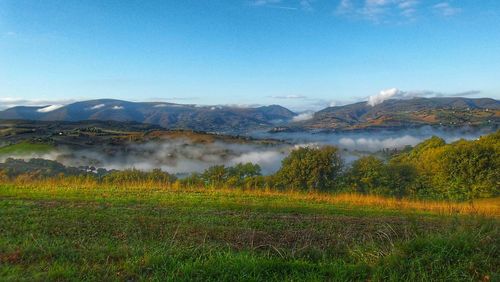
[[[18,178],[14,181],[1,180],[0,184],[10,184],[34,190],[64,190],[64,189],[109,189],[123,191],[178,191],[207,194],[227,194],[231,196],[246,195],[255,197],[282,197],[295,201],[311,201],[334,205],[351,205],[372,207],[386,210],[421,211],[440,215],[482,215],[500,217],[500,198],[478,199],[473,202],[454,202],[436,200],[397,199],[377,195],[357,193],[322,193],[302,191],[278,191],[270,189],[231,189],[182,187],[178,183],[161,183],[155,181],[137,181],[123,183],[99,183],[92,178],[54,178],[33,181],[29,178]]]

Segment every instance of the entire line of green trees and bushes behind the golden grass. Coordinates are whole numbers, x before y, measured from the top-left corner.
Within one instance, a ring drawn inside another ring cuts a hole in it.
[[[0,164],[0,179],[80,176],[108,184],[137,181],[176,187],[280,189],[356,192],[392,197],[471,200],[500,194],[500,131],[478,140],[447,144],[432,137],[415,147],[379,158],[364,156],[346,164],[334,146],[292,151],[280,169],[262,175],[257,164],[212,166],[202,173],[177,178],[155,169],[145,172],[68,168],[54,161],[9,159]]]

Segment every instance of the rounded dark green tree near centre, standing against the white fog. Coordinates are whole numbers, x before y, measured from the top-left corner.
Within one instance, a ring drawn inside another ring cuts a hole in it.
[[[331,190],[342,170],[339,150],[333,146],[303,147],[286,157],[276,173],[278,186],[301,190]]]

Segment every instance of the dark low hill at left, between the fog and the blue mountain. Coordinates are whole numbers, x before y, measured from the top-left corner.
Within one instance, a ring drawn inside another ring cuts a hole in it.
[[[167,130],[157,125],[137,122],[79,121],[49,122],[0,120],[1,145],[21,143],[51,145],[77,149],[104,149],[156,140],[182,139],[195,144],[226,142],[229,144],[278,144],[271,139],[253,139],[231,135],[212,134],[191,130]]]

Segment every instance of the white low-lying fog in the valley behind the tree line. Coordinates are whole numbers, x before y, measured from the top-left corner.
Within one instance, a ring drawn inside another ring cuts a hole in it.
[[[95,150],[70,151],[60,148],[49,154],[15,156],[57,160],[68,166],[95,166],[106,169],[161,168],[176,174],[202,172],[213,165],[231,166],[237,163],[259,164],[264,174],[278,170],[288,153],[299,146],[335,145],[342,149],[346,162],[360,155],[382,149],[414,146],[433,135],[447,142],[459,139],[476,139],[491,132],[462,130],[437,130],[430,127],[400,131],[370,131],[352,133],[253,133],[253,137],[280,139],[279,145],[239,143],[193,143],[187,139],[166,139],[143,144],[130,144],[119,148],[96,147]],[[7,156],[3,156],[5,159]],[[0,159],[0,161],[3,161]]]

